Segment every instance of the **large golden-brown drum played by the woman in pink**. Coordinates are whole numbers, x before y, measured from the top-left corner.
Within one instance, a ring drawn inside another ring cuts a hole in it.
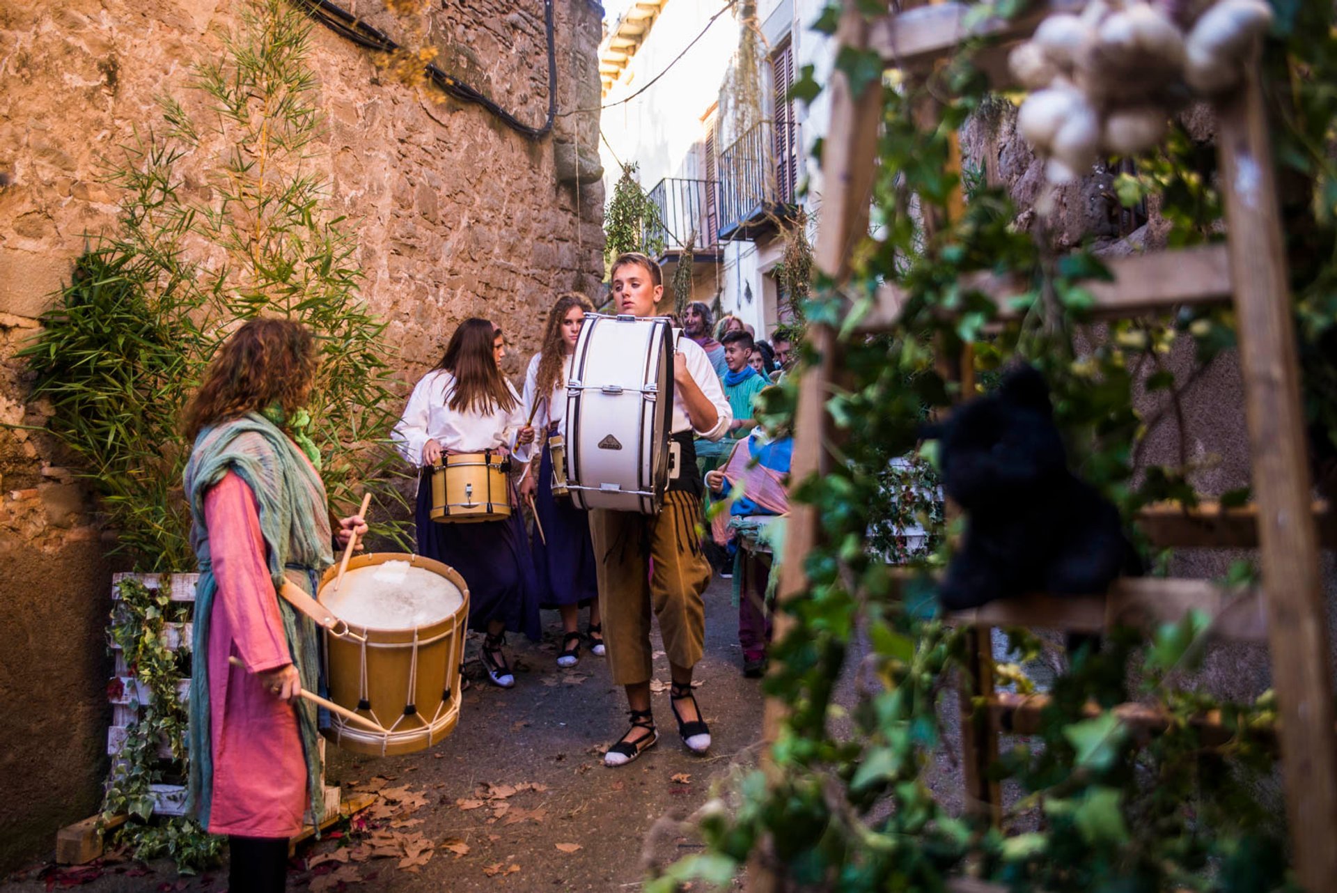
[[[373,757],[410,754],[449,735],[460,719],[460,664],[469,590],[455,569],[421,555],[378,552],[321,579],[320,602],[348,623],[325,635],[329,698],[380,731],[330,715],[324,735]]]

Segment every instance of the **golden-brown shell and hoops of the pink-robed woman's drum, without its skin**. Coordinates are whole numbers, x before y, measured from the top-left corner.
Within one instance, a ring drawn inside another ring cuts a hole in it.
[[[325,631],[325,679],[329,699],[341,707],[372,719],[388,734],[378,734],[330,717],[330,726],[322,729],[334,745],[370,757],[392,757],[425,750],[452,731],[460,719],[460,664],[464,662],[464,638],[469,618],[469,590],[453,568],[422,557],[398,552],[360,555],[348,564],[348,571],[384,564],[409,561],[427,568],[453,583],[463,596],[460,606],[447,618],[416,630],[377,630],[349,624],[366,636],[366,644],[352,636],[336,636]],[[332,584],[338,573],[330,567],[321,578],[320,590]],[[413,651],[417,642],[417,660]],[[366,659],[366,703],[362,705],[362,659]],[[412,694],[409,676],[414,675]],[[413,705],[413,711],[405,709]]]

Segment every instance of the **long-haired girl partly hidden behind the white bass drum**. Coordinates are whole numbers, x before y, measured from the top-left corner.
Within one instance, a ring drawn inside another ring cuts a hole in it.
[[[568,291],[558,297],[543,333],[543,349],[529,361],[524,376],[525,416],[532,416],[536,428],[545,430],[550,438],[566,437],[566,386],[586,313],[594,313],[594,305],[583,294]],[[590,606],[586,635],[591,652],[603,656],[598,563],[590,543],[590,520],[570,499],[552,495],[552,451],[547,438],[540,453],[529,461],[520,481],[520,495],[533,496],[535,513],[547,536],[547,541],[535,537],[532,548],[539,607],[556,608],[562,614],[558,666],[574,667],[580,660],[579,612],[586,604]]]

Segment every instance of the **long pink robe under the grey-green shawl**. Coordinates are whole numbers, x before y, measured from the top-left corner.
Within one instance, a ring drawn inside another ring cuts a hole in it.
[[[253,675],[291,663],[269,575],[259,507],[233,472],[205,495],[218,592],[209,634],[213,834],[293,837],[306,811],[306,762],[291,706]],[[246,668],[234,667],[237,656]]]

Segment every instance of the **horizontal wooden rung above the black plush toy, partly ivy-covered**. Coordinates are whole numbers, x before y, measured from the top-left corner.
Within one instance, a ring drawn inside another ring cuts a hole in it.
[[[1165,311],[1179,305],[1230,301],[1230,254],[1225,245],[1205,245],[1178,251],[1134,254],[1106,261],[1110,282],[1087,281],[1083,287],[1095,298],[1095,318],[1128,317]],[[1034,281],[981,271],[964,277],[963,291],[979,291],[997,306],[999,320],[1015,320],[1020,311],[1012,299],[1032,295]],[[864,333],[885,332],[896,325],[909,294],[896,285],[877,290],[873,309],[858,324]]]

